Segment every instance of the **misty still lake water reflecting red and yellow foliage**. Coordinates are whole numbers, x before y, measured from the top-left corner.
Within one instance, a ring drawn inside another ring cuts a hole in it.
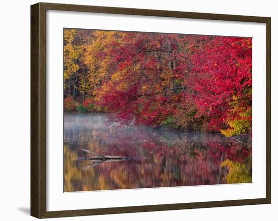
[[[65,192],[252,182],[250,136],[106,121],[106,114],[64,115]],[[92,153],[132,159],[78,160]]]

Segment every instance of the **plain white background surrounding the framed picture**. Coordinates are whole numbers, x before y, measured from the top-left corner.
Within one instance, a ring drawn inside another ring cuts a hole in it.
[[[52,2],[52,1],[44,1]],[[276,220],[278,195],[275,191],[277,169],[275,162],[277,137],[274,125],[278,124],[277,65],[278,46],[276,1],[178,1],[178,0],[56,0],[55,3],[145,8],[188,12],[206,12],[271,17],[272,38],[272,204],[144,212],[99,216],[57,218],[53,220]],[[30,204],[30,5],[36,1],[3,1],[0,21],[0,218],[2,220],[35,220],[29,215]]]

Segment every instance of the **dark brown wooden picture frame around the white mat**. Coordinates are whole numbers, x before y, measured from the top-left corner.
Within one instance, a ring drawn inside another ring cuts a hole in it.
[[[258,22],[266,24],[266,197],[259,199],[225,200],[211,202],[176,203],[163,205],[127,206],[99,209],[47,211],[47,79],[46,79],[46,12],[47,10],[112,13],[210,19],[222,21]],[[175,12],[146,9],[113,8],[83,5],[37,3],[31,6],[31,215],[37,218],[98,215],[127,212],[146,212],[175,209],[238,206],[271,203],[271,146],[270,146],[270,56],[271,39],[268,17],[221,15],[193,12]]]

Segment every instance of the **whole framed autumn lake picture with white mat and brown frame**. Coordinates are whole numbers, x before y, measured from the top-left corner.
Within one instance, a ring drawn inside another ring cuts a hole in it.
[[[31,6],[31,215],[270,203],[270,18]]]

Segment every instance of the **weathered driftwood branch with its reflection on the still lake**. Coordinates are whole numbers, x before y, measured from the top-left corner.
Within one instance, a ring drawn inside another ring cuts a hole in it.
[[[98,164],[101,164],[103,162],[115,162],[115,161],[121,161],[121,160],[132,160],[135,159],[134,157],[127,157],[127,156],[114,156],[114,155],[102,155],[99,153],[95,153],[93,151],[89,151],[86,149],[82,149],[82,151],[86,153],[90,153],[91,155],[84,155],[81,157],[78,157],[76,159],[77,163],[84,167],[83,169],[89,168],[89,167],[95,167]],[[90,161],[89,164],[81,164],[80,161]]]

